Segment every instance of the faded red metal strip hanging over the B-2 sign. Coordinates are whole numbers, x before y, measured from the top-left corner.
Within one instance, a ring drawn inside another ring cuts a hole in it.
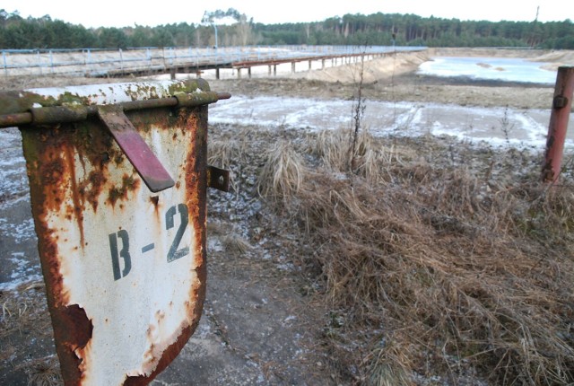
[[[175,181],[153,154],[143,138],[137,134],[134,125],[119,105],[98,106],[98,117],[109,128],[109,133],[132,162],[145,185],[152,192],[171,188]]]

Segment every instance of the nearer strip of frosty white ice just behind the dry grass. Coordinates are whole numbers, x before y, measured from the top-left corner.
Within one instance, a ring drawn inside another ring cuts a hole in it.
[[[364,127],[373,135],[456,136],[490,145],[544,150],[551,110],[463,107],[422,102],[366,101]],[[351,127],[352,101],[233,95],[210,106],[210,123],[306,130]],[[574,147],[574,128],[566,146]]]

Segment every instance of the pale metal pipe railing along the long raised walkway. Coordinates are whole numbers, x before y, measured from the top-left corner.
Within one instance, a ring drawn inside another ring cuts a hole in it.
[[[106,75],[122,68],[161,69],[161,66],[191,65],[222,66],[232,62],[268,61],[291,57],[325,57],[390,52],[394,48],[373,46],[274,46],[274,47],[224,47],[224,48],[126,48],[104,50],[100,48],[79,49],[3,49],[4,76],[44,74],[59,75]],[[400,50],[413,49],[404,47]],[[67,54],[67,55],[66,55]],[[79,54],[79,55],[78,55]],[[30,55],[35,56],[30,60]],[[77,57],[77,58],[74,58]]]

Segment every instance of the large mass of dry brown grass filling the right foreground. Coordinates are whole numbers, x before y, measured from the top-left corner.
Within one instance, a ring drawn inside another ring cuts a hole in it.
[[[281,144],[260,175],[317,246],[303,264],[325,282],[341,376],[574,382],[574,190],[541,186],[524,152],[419,146],[444,156],[400,161],[403,150],[364,139],[350,175],[348,137],[321,133],[305,148],[315,172]]]

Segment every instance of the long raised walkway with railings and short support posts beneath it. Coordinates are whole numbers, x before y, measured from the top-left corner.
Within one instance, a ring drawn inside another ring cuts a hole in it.
[[[395,55],[398,52],[421,51],[424,47],[393,46],[245,46],[225,48],[126,48],[126,49],[31,49],[2,50],[0,71],[4,76],[81,75],[90,77],[128,77],[170,74],[201,74],[221,69],[242,70],[267,66],[269,75],[277,66],[291,63],[291,71],[301,62],[327,61],[331,66]]]

